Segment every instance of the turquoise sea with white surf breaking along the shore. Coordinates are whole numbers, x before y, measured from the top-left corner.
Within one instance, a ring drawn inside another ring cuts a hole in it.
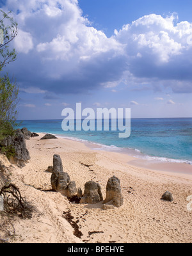
[[[20,128],[57,134],[72,140],[91,141],[100,150],[126,151],[143,159],[192,164],[192,118],[145,118],[131,120],[131,136],[118,138],[120,131],[68,131],[62,120],[24,120]],[[96,120],[95,120],[96,122]]]

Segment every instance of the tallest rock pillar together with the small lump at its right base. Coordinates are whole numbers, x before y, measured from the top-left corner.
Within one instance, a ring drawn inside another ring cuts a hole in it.
[[[67,172],[63,172],[63,164],[59,155],[53,156],[51,186],[54,191],[72,197],[77,194],[76,182],[71,181]]]

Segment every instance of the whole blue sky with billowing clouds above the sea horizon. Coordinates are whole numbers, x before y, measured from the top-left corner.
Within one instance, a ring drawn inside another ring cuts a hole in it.
[[[191,0],[1,0],[19,33],[4,68],[18,119],[63,108],[131,108],[132,118],[192,117]]]

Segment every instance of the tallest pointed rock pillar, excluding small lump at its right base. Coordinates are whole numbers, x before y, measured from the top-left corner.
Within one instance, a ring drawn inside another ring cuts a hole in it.
[[[63,172],[63,164],[59,155],[53,156],[53,168],[51,175],[51,186],[54,191],[59,191],[63,195],[67,195],[68,184],[70,177],[68,173]]]

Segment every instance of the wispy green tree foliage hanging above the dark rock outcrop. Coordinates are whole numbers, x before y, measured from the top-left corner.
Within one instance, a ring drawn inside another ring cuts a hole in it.
[[[0,72],[6,64],[16,59],[15,49],[10,51],[9,43],[17,36],[17,22],[9,15],[10,12],[0,10]],[[0,142],[7,136],[14,135],[18,93],[17,84],[10,81],[8,74],[0,77]],[[4,148],[0,145],[0,150],[7,156],[15,154],[12,147]]]

